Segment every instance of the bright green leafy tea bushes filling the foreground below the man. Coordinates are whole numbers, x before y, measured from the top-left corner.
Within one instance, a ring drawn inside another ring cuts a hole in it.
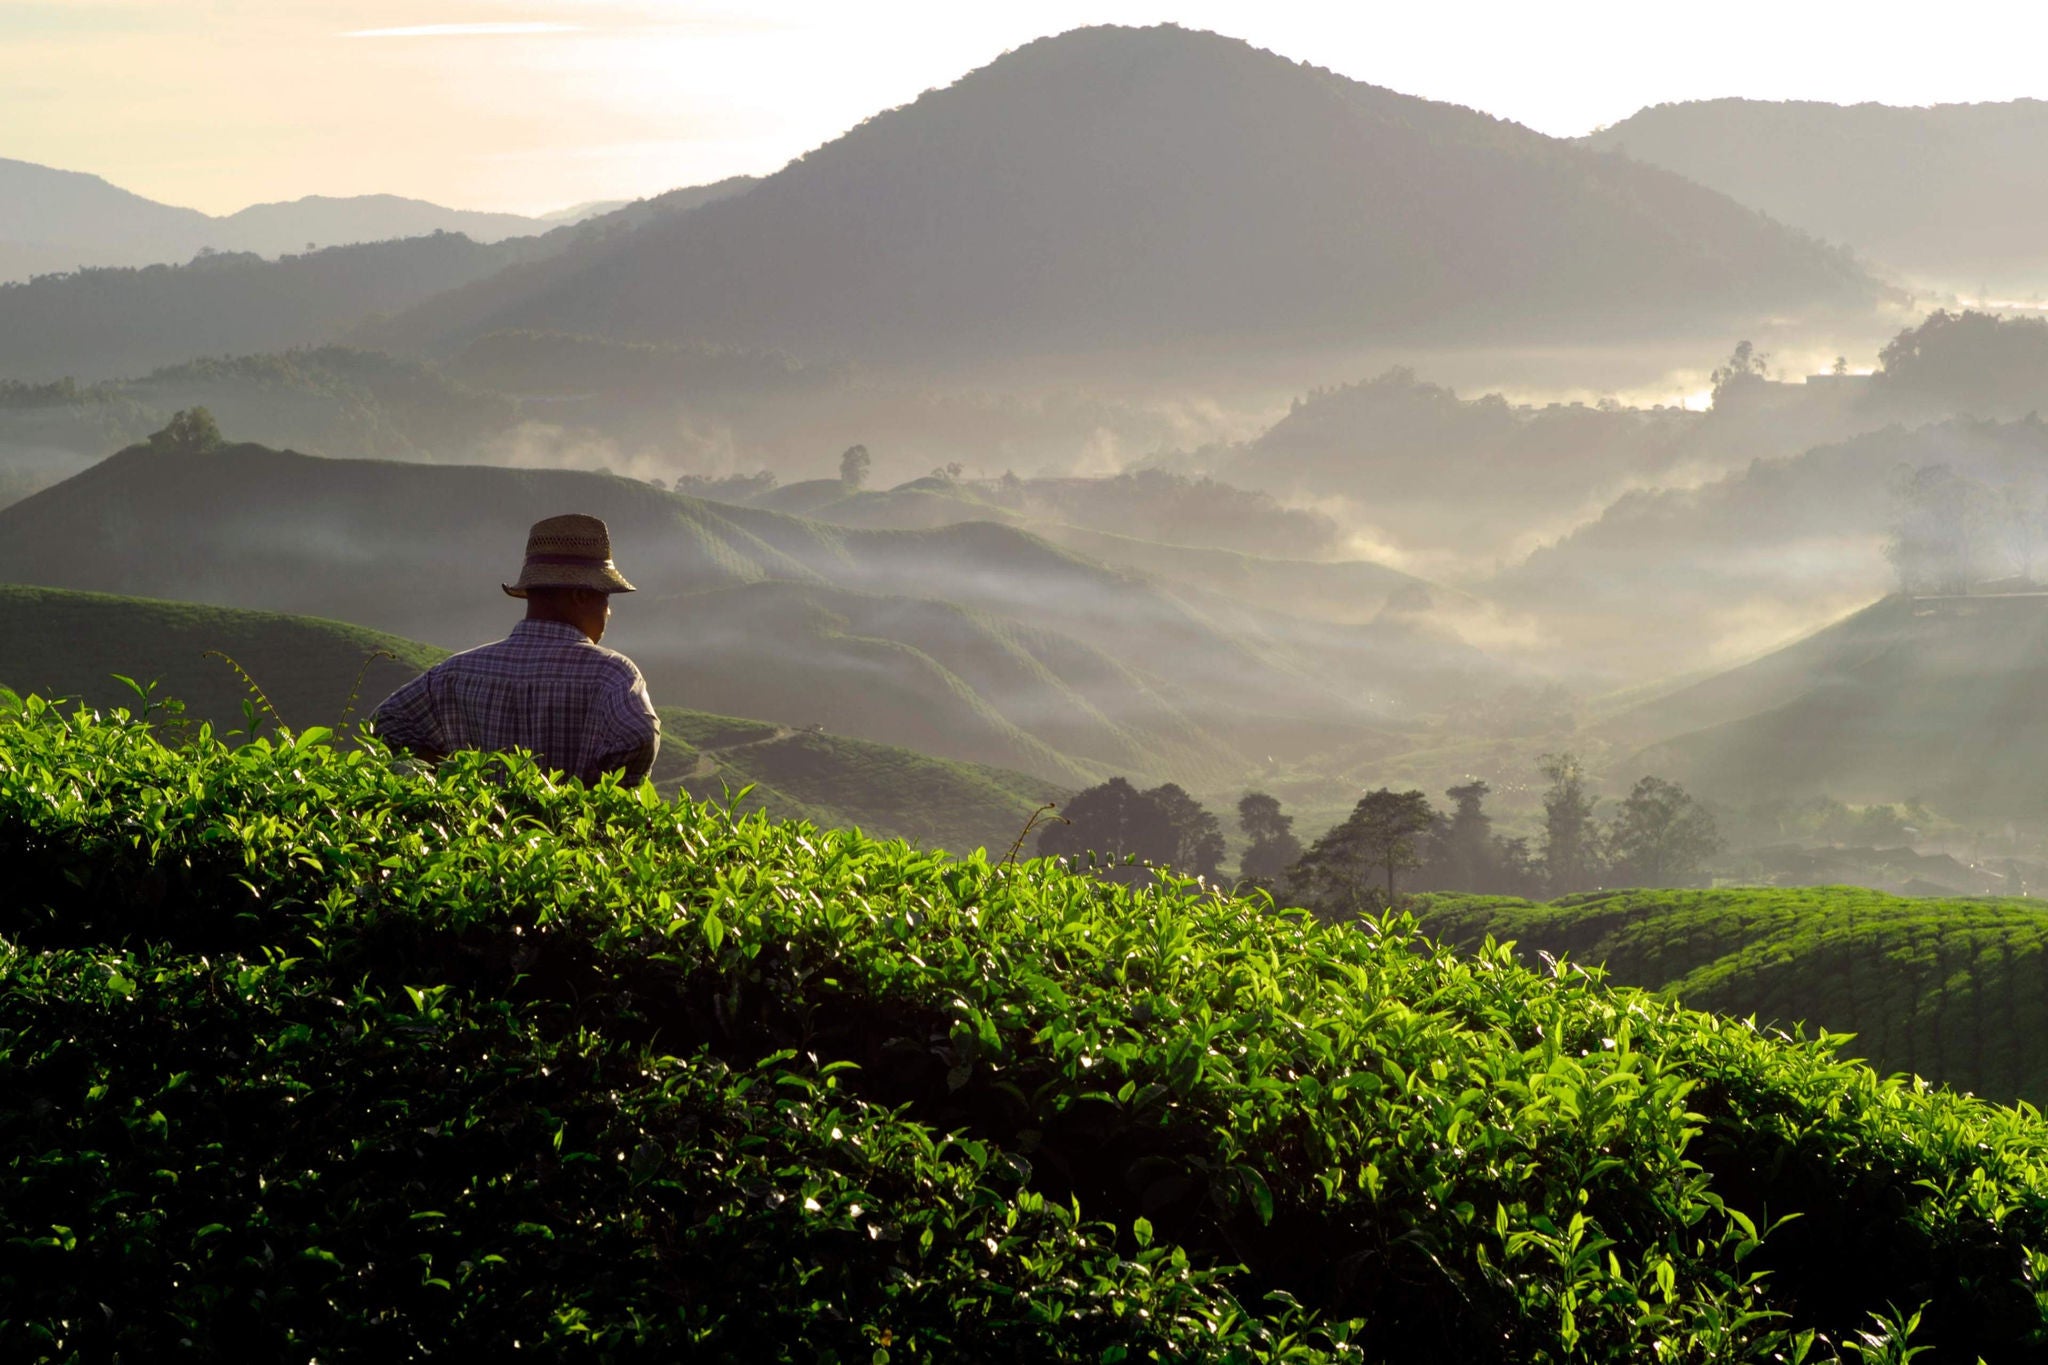
[[[8,1361],[2048,1342],[2036,1113],[1403,919],[35,700],[0,866]]]

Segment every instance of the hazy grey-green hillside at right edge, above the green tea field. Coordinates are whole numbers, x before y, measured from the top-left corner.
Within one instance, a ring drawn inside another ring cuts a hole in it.
[[[1632,761],[1704,794],[1923,800],[2038,819],[2048,804],[2048,596],[1886,598],[1610,722]]]

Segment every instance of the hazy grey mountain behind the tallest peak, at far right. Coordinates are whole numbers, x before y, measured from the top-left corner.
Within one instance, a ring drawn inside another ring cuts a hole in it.
[[[1585,139],[1948,287],[2038,291],[2048,102],[1694,100]],[[2013,297],[2019,297],[2017,293]]]

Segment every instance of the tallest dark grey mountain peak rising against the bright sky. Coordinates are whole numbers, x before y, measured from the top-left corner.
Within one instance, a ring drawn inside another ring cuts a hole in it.
[[[1079,29],[748,194],[399,319],[952,360],[1858,309],[1835,254],[1669,172],[1176,27]]]

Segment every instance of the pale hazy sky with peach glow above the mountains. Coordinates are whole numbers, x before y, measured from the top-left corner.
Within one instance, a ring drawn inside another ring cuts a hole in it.
[[[1661,100],[2048,92],[2048,8],[1800,0],[0,0],[0,158],[225,213],[543,211],[770,172],[1087,23],[1214,29],[1546,133]]]

